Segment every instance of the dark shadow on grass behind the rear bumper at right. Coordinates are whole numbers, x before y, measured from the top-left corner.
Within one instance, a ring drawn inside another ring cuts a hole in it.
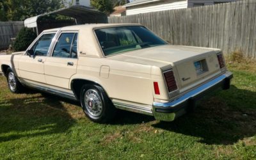
[[[209,145],[230,145],[256,134],[256,92],[231,86],[202,100],[194,113],[152,126],[195,136]]]

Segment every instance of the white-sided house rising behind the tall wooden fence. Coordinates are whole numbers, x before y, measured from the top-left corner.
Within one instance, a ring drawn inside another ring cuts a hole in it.
[[[234,1],[237,0],[133,0],[131,3],[125,4],[124,7],[126,8],[126,15],[136,15],[139,13],[191,8]]]

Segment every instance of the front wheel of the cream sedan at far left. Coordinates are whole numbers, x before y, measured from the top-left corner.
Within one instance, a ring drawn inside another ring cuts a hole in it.
[[[15,77],[11,68],[7,69],[6,79],[8,82],[8,87],[12,93],[21,93],[24,90],[24,87],[19,82],[17,77]]]

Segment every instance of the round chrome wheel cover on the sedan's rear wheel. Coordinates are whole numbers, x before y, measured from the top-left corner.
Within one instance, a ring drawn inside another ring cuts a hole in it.
[[[84,94],[84,106],[92,116],[100,116],[102,113],[102,100],[96,90],[87,90]]]

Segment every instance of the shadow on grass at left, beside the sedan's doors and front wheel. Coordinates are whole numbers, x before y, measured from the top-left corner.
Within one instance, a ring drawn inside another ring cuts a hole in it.
[[[67,131],[75,120],[58,97],[29,90],[0,100],[0,143]]]

